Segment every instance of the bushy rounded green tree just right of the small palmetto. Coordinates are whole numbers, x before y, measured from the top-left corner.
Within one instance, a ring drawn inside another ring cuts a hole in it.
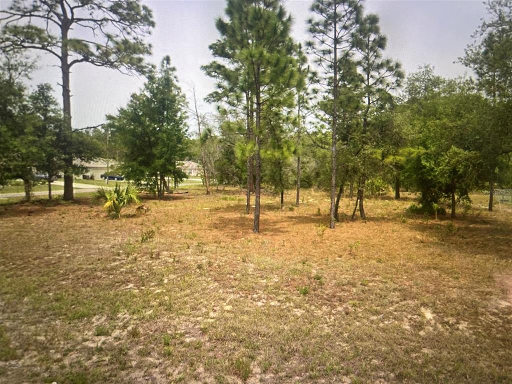
[[[125,152],[121,169],[140,188],[161,197],[167,177],[180,182],[186,175],[179,167],[188,154],[186,100],[178,85],[176,69],[167,56],[139,94],[133,94],[117,117],[109,117],[111,129]]]

